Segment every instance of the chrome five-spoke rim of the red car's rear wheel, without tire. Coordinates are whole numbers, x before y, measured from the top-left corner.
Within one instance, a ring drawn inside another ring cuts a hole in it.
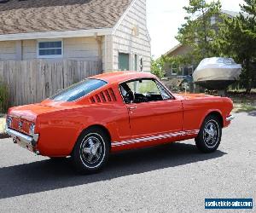
[[[102,163],[105,155],[104,143],[101,135],[92,133],[86,135],[80,145],[80,158],[83,164],[89,168],[95,168]]]

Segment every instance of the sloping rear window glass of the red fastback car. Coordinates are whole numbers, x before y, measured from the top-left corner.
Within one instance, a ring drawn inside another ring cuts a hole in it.
[[[53,101],[76,101],[84,95],[89,94],[91,91],[101,88],[106,85],[105,81],[99,79],[85,79],[80,83],[73,84],[67,89],[53,95],[49,99]]]

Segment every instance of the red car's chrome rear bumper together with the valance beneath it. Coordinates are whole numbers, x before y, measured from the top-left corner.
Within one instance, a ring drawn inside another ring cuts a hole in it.
[[[9,128],[6,128],[6,133],[10,135],[15,142],[17,142],[21,147],[26,147],[27,149],[31,150],[33,147],[36,146],[38,142],[38,134],[34,134],[32,136],[22,134],[18,131],[11,130]],[[33,150],[31,150],[33,151]]]

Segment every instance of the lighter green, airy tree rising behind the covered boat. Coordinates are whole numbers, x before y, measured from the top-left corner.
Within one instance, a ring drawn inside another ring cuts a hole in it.
[[[199,63],[215,53],[212,41],[217,37],[220,27],[218,18],[221,16],[221,4],[219,1],[207,3],[206,0],[189,0],[189,6],[183,9],[188,15],[184,18],[186,23],[178,29],[176,38],[192,49],[191,62]]]

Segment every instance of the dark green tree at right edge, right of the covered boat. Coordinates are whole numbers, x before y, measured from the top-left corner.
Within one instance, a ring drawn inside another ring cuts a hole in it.
[[[256,81],[256,0],[244,0],[239,16],[224,18],[224,26],[215,43],[219,55],[242,64],[241,86],[249,93]]]

